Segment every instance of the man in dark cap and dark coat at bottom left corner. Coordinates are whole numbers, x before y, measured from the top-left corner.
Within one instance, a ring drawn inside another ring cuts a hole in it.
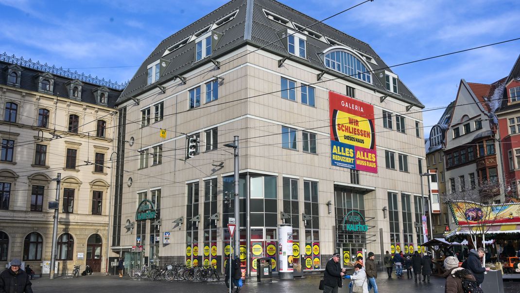
[[[33,293],[29,276],[23,270],[19,259],[11,260],[9,269],[0,274],[1,293]]]

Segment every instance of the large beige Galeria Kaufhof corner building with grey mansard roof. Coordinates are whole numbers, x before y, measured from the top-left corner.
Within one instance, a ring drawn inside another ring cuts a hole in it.
[[[369,44],[288,6],[210,12],[151,50],[116,104],[111,245],[127,266],[223,269],[233,136],[246,274],[258,257],[275,272],[314,270],[334,252],[380,258],[423,243],[424,106]],[[278,253],[282,223],[291,255]]]

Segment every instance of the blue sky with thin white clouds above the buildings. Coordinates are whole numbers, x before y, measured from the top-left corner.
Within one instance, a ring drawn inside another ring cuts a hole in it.
[[[227,1],[0,0],[1,53],[124,82],[166,37]],[[281,0],[318,20],[361,0]],[[327,24],[369,43],[388,65],[520,37],[507,0],[375,0]],[[520,41],[393,68],[426,109],[446,106],[460,79],[509,74]],[[443,110],[425,111],[425,135]]]

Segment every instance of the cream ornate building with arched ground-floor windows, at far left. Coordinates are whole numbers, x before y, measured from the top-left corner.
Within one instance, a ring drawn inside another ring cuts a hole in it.
[[[0,267],[48,267],[61,173],[58,274],[105,271],[114,104],[123,85],[0,55]],[[115,158],[115,156],[114,156]]]

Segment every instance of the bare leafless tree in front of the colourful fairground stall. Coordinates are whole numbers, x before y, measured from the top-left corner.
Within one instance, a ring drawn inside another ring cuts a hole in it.
[[[443,195],[443,200],[451,208],[457,224],[467,227],[475,249],[478,236],[482,237],[484,245],[486,233],[504,209],[504,187],[503,182],[497,180],[480,181],[478,185],[474,182],[467,185],[464,180],[459,180],[456,186],[450,186],[451,193]],[[457,219],[464,219],[464,221]],[[485,256],[484,263],[486,263]]]

